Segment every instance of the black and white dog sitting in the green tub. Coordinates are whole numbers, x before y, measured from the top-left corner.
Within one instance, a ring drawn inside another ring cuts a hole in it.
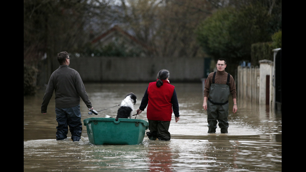
[[[117,112],[116,121],[118,121],[118,118],[132,118],[132,112],[134,111],[136,99],[136,95],[132,92],[126,95],[126,98],[121,101],[120,108]]]

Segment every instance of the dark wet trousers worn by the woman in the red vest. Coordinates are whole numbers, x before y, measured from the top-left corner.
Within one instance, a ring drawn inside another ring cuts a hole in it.
[[[149,120],[149,130],[147,136],[150,140],[170,140],[171,136],[169,133],[170,121],[159,121],[159,120]]]

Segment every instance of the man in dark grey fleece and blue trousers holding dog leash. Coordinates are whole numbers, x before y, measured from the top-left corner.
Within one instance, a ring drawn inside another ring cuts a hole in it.
[[[79,73],[70,68],[70,57],[67,52],[57,54],[60,66],[49,81],[42,101],[41,111],[47,113],[47,106],[55,91],[55,113],[57,120],[56,140],[67,138],[68,126],[72,141],[79,141],[82,133],[80,97],[89,109],[93,109],[85,86]]]

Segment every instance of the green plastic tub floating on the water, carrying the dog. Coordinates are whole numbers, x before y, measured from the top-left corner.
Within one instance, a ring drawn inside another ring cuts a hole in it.
[[[84,125],[88,140],[94,145],[138,145],[149,123],[140,119],[87,118]]]

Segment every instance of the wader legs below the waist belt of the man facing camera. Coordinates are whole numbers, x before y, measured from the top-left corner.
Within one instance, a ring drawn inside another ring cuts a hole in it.
[[[217,128],[217,120],[221,133],[227,133],[229,127],[228,121],[229,104],[214,105],[210,101],[207,101],[207,122],[208,133],[215,133]]]

